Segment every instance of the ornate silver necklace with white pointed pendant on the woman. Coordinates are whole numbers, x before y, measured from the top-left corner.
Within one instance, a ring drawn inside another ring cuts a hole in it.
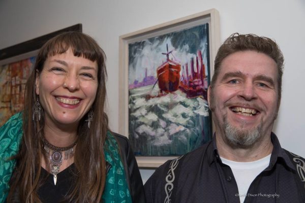
[[[63,154],[65,154],[65,160],[71,158],[74,156],[74,150],[73,147],[76,145],[77,140],[68,147],[56,147],[49,143],[45,137],[42,137],[42,142],[44,144],[43,148],[49,155],[50,160],[50,166],[51,166],[51,174],[53,175],[54,185],[56,185],[57,182],[57,174],[59,173],[60,165],[62,165],[63,161]],[[50,154],[50,151],[52,150],[52,153]]]

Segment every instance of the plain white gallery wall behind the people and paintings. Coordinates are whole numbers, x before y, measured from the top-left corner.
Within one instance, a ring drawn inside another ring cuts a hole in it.
[[[216,8],[221,42],[231,33],[275,39],[285,56],[283,96],[274,131],[282,147],[305,157],[304,0],[0,0],[0,49],[82,23],[107,55],[110,124],[118,130],[118,38],[149,26]],[[146,180],[152,170],[142,170]]]

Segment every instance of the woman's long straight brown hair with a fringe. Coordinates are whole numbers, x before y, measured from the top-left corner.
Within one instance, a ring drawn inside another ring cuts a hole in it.
[[[65,53],[69,48],[74,56],[84,57],[98,63],[98,89],[92,106],[94,119],[87,127],[85,115],[77,129],[78,142],[74,155],[76,166],[75,185],[71,188],[69,202],[101,202],[105,179],[106,161],[103,144],[108,128],[108,118],[104,112],[106,98],[107,72],[105,53],[94,39],[81,32],[62,33],[49,40],[39,51],[34,70],[25,87],[25,104],[23,112],[23,137],[16,159],[16,166],[10,180],[7,202],[12,202],[18,195],[21,202],[41,202],[38,189],[41,185],[41,158],[48,163],[42,147],[44,115],[40,121],[32,121],[33,106],[37,100],[35,92],[36,75],[40,74],[45,60],[49,56]]]

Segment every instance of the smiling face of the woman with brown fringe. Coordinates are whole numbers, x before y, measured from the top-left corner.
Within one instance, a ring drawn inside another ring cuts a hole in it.
[[[71,49],[48,57],[36,77],[47,125],[76,127],[91,108],[97,89],[97,62],[76,57]]]

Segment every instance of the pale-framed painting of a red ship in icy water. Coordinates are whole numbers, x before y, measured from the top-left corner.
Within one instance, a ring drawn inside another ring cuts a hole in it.
[[[215,9],[120,36],[119,133],[140,167],[211,139],[207,88],[219,43]]]

